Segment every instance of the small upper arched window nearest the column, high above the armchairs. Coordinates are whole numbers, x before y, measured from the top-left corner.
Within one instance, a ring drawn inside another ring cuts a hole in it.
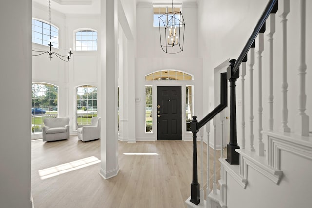
[[[97,51],[98,32],[95,30],[81,30],[76,32],[76,51]]]

